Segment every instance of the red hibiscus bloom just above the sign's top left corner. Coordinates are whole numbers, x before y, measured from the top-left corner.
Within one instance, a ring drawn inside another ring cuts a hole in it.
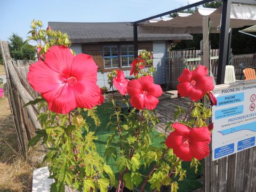
[[[184,69],[178,78],[180,82],[177,86],[181,97],[190,97],[193,101],[198,101],[204,97],[204,94],[213,90],[212,77],[206,77],[207,68],[199,65],[195,70]]]

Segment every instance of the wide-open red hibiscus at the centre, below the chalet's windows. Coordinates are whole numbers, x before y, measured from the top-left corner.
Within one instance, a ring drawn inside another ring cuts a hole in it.
[[[137,109],[155,109],[158,97],[163,93],[160,85],[154,84],[153,77],[142,76],[128,83],[127,91],[131,96],[131,105]]]

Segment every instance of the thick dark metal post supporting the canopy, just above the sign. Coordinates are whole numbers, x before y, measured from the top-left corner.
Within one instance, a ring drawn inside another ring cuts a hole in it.
[[[231,0],[222,1],[221,29],[220,29],[220,51],[217,71],[217,84],[223,84],[225,70],[228,62],[228,32],[230,27]]]

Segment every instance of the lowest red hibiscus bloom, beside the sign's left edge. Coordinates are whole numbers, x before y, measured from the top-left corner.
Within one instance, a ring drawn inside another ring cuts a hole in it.
[[[211,132],[208,127],[190,128],[180,123],[174,123],[175,129],[167,137],[165,143],[173,148],[173,153],[183,161],[191,161],[192,158],[203,159],[210,153],[209,143]]]

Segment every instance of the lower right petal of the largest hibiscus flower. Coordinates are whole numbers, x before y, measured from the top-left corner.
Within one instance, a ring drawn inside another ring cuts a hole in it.
[[[95,83],[79,81],[73,91],[77,107],[91,109],[100,100],[100,87]]]

